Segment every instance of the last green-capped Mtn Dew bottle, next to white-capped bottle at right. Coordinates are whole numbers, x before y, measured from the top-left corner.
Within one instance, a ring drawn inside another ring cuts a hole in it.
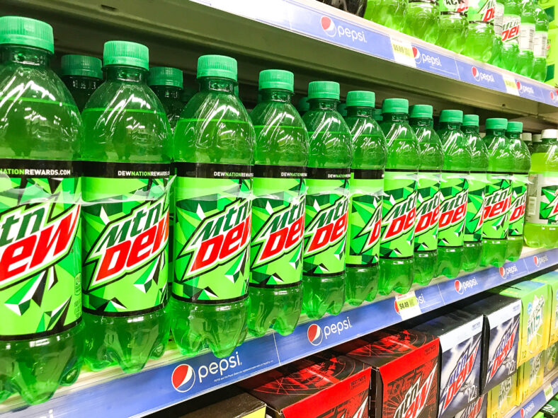
[[[506,258],[510,261],[519,260],[523,250],[523,222],[525,221],[525,202],[527,200],[527,184],[531,156],[525,143],[521,141],[523,123],[508,122],[506,136],[511,139],[513,153],[513,178],[511,180],[510,229],[508,233],[508,249]]]

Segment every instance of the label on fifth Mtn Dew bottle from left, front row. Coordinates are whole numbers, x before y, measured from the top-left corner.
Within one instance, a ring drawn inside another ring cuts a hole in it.
[[[336,276],[345,271],[349,168],[308,169],[303,271]]]

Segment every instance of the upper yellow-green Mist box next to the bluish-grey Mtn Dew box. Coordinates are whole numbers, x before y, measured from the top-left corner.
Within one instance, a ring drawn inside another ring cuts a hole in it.
[[[536,281],[520,281],[499,286],[491,292],[521,299],[518,367],[545,349],[545,329],[549,326],[548,287]]]

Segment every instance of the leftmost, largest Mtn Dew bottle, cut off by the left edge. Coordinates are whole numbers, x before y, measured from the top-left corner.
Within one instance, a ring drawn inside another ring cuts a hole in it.
[[[0,51],[0,402],[19,393],[36,404],[82,363],[83,130],[50,69],[50,25],[0,17]]]

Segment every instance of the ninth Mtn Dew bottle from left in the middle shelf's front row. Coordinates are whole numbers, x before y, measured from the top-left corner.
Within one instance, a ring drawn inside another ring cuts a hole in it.
[[[463,112],[442,110],[438,135],[444,147],[438,223],[438,272],[457,277],[463,262],[471,149],[461,131]]]

